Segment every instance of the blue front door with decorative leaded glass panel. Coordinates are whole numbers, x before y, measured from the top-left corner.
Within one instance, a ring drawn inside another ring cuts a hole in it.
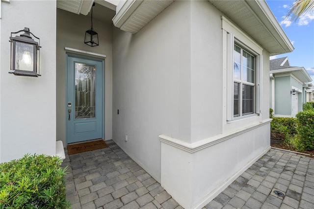
[[[104,61],[67,54],[67,144],[103,136]]]

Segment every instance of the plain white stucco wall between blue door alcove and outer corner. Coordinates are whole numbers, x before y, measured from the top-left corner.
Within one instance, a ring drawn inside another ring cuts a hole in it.
[[[191,140],[188,5],[175,1],[136,35],[113,30],[113,140],[157,181],[158,135]]]

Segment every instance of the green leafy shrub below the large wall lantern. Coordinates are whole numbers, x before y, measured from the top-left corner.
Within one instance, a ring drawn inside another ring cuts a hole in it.
[[[25,155],[0,164],[0,208],[68,209],[58,157]]]

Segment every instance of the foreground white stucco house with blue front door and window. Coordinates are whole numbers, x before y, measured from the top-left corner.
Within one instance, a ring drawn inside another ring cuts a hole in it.
[[[93,1],[73,2],[1,3],[1,162],[113,139],[183,208],[202,208],[270,149],[269,56],[293,46],[264,0],[97,0],[97,47],[79,14]],[[8,74],[10,32],[24,27],[40,38],[39,78]],[[95,75],[96,110],[81,116]]]

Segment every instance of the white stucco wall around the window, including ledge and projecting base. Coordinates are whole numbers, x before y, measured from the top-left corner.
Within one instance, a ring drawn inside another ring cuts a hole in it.
[[[262,113],[227,122],[223,14],[207,1],[192,1],[190,11],[191,143],[161,135],[161,185],[183,208],[202,208],[270,147],[269,53],[262,52]]]

